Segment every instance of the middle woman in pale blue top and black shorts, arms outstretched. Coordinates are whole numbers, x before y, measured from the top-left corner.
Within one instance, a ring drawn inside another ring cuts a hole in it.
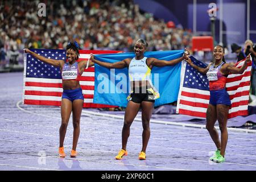
[[[159,93],[156,91],[150,81],[150,73],[152,68],[164,67],[175,65],[187,59],[187,55],[172,61],[158,60],[153,57],[145,57],[144,52],[146,51],[147,43],[145,40],[137,40],[134,46],[135,57],[133,59],[124,59],[116,63],[106,63],[94,59],[91,57],[93,63],[101,65],[106,68],[128,68],[129,78],[131,82],[131,94],[127,98],[129,100],[125,110],[125,121],[122,129],[122,149],[115,156],[115,159],[122,159],[123,156],[127,155],[126,144],[130,135],[130,126],[136,117],[139,108],[142,107],[142,150],[139,153],[139,159],[146,159],[146,148],[150,138],[150,118],[152,110],[154,109],[155,99],[159,97]]]

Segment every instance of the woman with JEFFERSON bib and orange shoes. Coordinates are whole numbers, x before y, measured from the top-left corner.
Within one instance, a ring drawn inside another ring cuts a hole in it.
[[[71,112],[73,113],[74,129],[71,157],[77,156],[76,146],[80,134],[80,118],[82,105],[84,103],[84,96],[82,95],[82,89],[80,87],[79,80],[87,64],[87,61],[85,60],[82,60],[79,63],[77,62],[79,59],[79,45],[77,42],[69,42],[66,49],[66,63],[63,60],[47,59],[46,57],[40,56],[35,52],[30,51],[30,49],[24,50],[25,52],[30,53],[32,56],[36,57],[36,59],[60,68],[63,86],[59,145],[60,158],[65,157],[63,144]],[[89,67],[92,67],[93,65],[94,63],[89,63]]]

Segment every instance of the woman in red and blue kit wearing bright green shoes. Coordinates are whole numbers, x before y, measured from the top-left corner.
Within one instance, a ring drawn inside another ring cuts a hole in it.
[[[210,101],[207,108],[207,125],[210,137],[215,143],[217,150],[210,157],[210,160],[221,163],[225,162],[225,150],[228,143],[228,130],[226,124],[228,122],[229,106],[231,105],[229,94],[226,92],[226,77],[229,73],[242,74],[245,71],[247,63],[250,63],[250,56],[246,57],[245,63],[236,68],[230,64],[226,64],[224,59],[224,48],[216,46],[213,50],[213,64],[210,63],[207,68],[197,67],[191,59],[186,61],[200,73],[207,75],[209,80]],[[218,131],[214,128],[214,124],[218,119],[218,125],[221,131],[221,141],[218,137]]]

